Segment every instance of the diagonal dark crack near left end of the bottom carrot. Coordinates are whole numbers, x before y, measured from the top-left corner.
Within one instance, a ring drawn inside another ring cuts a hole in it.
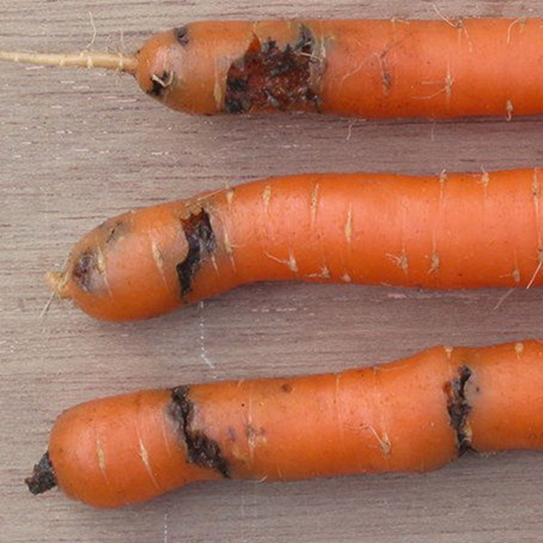
[[[172,389],[172,401],[168,405],[168,413],[178,425],[179,433],[186,443],[187,460],[229,478],[228,464],[218,443],[203,431],[191,427],[195,406],[188,398],[189,391],[189,386],[176,386]]]

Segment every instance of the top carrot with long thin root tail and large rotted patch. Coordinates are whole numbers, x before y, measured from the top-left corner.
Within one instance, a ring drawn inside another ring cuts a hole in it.
[[[543,19],[200,22],[133,55],[0,52],[132,73],[189,113],[309,110],[364,118],[543,112]]]

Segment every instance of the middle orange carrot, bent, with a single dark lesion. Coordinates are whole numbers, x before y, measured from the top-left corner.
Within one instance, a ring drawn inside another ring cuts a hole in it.
[[[543,284],[540,183],[537,168],[270,178],[112,218],[49,279],[110,320],[251,281],[527,288]]]

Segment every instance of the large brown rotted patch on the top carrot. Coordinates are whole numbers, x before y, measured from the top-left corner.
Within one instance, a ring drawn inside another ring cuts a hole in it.
[[[228,71],[224,111],[318,111],[319,96],[311,86],[314,49],[313,35],[303,24],[298,41],[284,49],[279,49],[271,38],[261,43],[254,35],[243,57],[233,62]]]

